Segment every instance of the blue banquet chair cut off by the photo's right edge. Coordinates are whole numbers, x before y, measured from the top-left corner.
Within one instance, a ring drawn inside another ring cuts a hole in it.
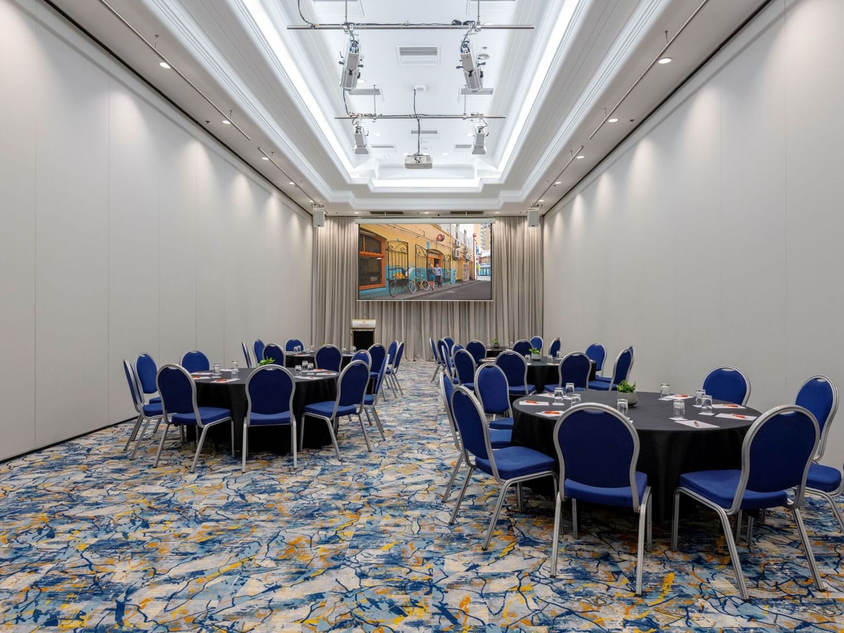
[[[809,409],[820,427],[818,450],[809,464],[809,474],[806,477],[806,492],[826,500],[838,521],[838,526],[841,527],[841,532],[844,532],[844,517],[841,517],[835,500],[836,496],[844,494],[841,471],[820,463],[821,457],[824,457],[832,420],[838,411],[838,387],[826,376],[812,376],[800,387],[795,404]]]

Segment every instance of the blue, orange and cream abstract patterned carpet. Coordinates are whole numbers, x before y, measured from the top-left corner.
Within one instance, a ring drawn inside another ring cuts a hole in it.
[[[448,526],[456,453],[432,371],[403,365],[406,397],[381,405],[372,453],[344,421],[342,461],[306,450],[293,470],[258,453],[241,473],[208,446],[189,474],[189,447],[171,442],[152,468],[151,448],[122,452],[124,424],[0,464],[0,630],[844,630],[844,535],[817,500],[805,517],[828,592],[784,511],[738,546],[748,603],[702,510],[678,553],[654,526],[641,598],[630,512],[584,506],[556,579],[552,506],[536,495],[524,514],[506,507],[482,551],[497,489],[476,476]]]

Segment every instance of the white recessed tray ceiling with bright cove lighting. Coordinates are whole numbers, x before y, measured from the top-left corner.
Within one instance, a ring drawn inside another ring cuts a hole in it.
[[[108,0],[147,40],[159,35],[159,50],[208,100],[232,111],[246,134],[224,124],[226,116],[172,69],[160,68],[160,58],[106,3],[52,2],[302,208],[313,200],[329,214],[522,214],[551,208],[766,0],[705,3],[666,52],[672,62],[654,65],[614,113],[618,122],[594,134],[605,109],[701,0],[483,0],[481,24],[536,28],[482,27],[472,36],[473,50],[490,56],[484,89],[492,90],[465,100],[463,72],[455,68],[463,30],[357,30],[365,79],[358,88],[381,95],[374,103],[371,95],[349,95],[349,111],[410,114],[416,87],[420,113],[461,115],[465,107],[506,116],[487,120],[480,156],[457,147],[472,143],[472,121],[423,120],[430,170],[403,165],[403,154],[416,150],[414,120],[364,122],[370,154],[354,153],[352,122],[336,118],[346,115],[338,61],[348,36],[288,30],[305,24],[297,0]],[[342,23],[344,4],[302,0],[302,11],[313,22]],[[473,0],[353,0],[348,8],[354,23],[450,23],[474,19],[477,10]],[[423,48],[408,57],[408,46]]]

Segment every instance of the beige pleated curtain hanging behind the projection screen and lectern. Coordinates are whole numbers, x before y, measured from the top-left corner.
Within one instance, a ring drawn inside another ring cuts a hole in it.
[[[542,229],[523,217],[493,225],[492,301],[358,301],[354,218],[327,217],[314,235],[314,344],[349,347],[353,318],[376,319],[376,340],[403,340],[408,359],[430,358],[429,337],[466,344],[542,335]]]

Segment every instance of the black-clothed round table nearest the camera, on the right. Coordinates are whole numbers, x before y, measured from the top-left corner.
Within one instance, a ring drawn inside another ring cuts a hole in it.
[[[582,403],[601,403],[615,407],[623,394],[619,392],[580,392]],[[651,486],[653,519],[664,523],[670,519],[674,502],[674,489],[682,473],[696,470],[717,470],[741,468],[741,446],[752,419],[726,419],[716,415],[700,415],[694,407],[695,399],[685,400],[686,419],[717,425],[717,429],[694,428],[681,425],[670,419],[674,414],[674,403],[659,399],[658,393],[637,392],[639,402],[630,407],[630,421],[639,434],[639,462],[636,470],[647,474]],[[538,405],[526,405],[524,400],[546,401],[550,409],[565,410],[553,406],[553,398],[528,396],[513,403],[512,443],[528,446],[556,459],[554,447],[554,426],[557,418],[539,414],[548,410]],[[713,400],[713,404],[726,404]],[[567,407],[566,407],[567,408]],[[737,413],[753,418],[759,411],[745,407],[735,411],[715,410],[715,413]],[[600,450],[597,448],[596,450]],[[549,485],[550,492],[550,485]],[[553,494],[553,493],[551,493]]]

